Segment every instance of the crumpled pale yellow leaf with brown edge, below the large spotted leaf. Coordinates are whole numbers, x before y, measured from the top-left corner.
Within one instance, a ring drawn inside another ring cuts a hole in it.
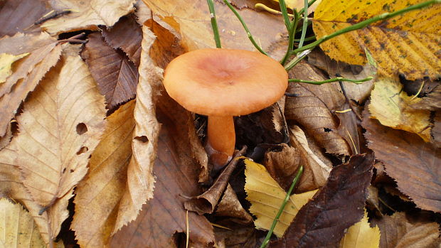
[[[420,102],[418,97],[409,97],[397,80],[380,78],[371,93],[369,112],[384,126],[418,134],[424,141],[430,141],[430,111],[413,109],[411,104]]]

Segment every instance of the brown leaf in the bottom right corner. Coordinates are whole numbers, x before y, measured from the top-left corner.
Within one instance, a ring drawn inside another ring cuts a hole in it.
[[[441,244],[436,222],[410,222],[404,212],[395,212],[373,220],[381,230],[380,247],[438,248]]]

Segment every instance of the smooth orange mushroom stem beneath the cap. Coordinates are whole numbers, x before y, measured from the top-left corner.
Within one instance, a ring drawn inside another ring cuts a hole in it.
[[[220,170],[234,153],[235,131],[233,116],[208,117],[206,151],[215,170]]]

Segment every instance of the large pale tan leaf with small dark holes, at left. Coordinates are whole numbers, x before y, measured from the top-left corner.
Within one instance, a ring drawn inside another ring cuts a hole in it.
[[[85,176],[104,129],[103,100],[85,63],[66,48],[17,119],[20,134],[11,141],[16,164],[36,203],[54,210],[48,212],[58,227],[53,232],[68,217],[73,187]]]

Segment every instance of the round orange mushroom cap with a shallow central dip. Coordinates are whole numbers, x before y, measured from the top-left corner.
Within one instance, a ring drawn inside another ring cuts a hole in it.
[[[164,87],[185,109],[208,116],[239,116],[277,102],[288,85],[280,63],[248,50],[206,48],[171,60]]]

